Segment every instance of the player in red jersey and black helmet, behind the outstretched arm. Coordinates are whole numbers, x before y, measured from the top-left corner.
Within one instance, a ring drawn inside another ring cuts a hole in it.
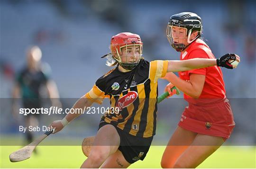
[[[210,47],[199,38],[201,32],[202,22],[197,14],[183,12],[170,18],[167,38],[172,47],[181,52],[181,61],[215,58]],[[197,167],[229,138],[235,126],[218,66],[180,71],[179,76],[167,73],[164,79],[171,83],[165,90],[171,93],[170,89],[176,86],[183,91],[189,106],[185,107],[165,148],[161,161],[163,168]]]

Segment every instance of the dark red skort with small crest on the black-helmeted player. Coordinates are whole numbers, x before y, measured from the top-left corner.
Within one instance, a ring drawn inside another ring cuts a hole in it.
[[[226,141],[235,122],[229,100],[224,98],[205,105],[189,104],[178,125],[195,133],[223,137]]]

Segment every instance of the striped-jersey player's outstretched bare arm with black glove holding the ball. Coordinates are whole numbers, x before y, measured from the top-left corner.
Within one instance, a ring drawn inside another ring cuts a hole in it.
[[[194,58],[184,61],[168,61],[167,72],[171,71],[189,71],[192,69],[206,68],[210,66],[221,66],[227,69],[236,68],[236,65],[230,64],[231,62],[240,62],[238,55],[233,53],[227,53],[218,59],[201,59]]]

